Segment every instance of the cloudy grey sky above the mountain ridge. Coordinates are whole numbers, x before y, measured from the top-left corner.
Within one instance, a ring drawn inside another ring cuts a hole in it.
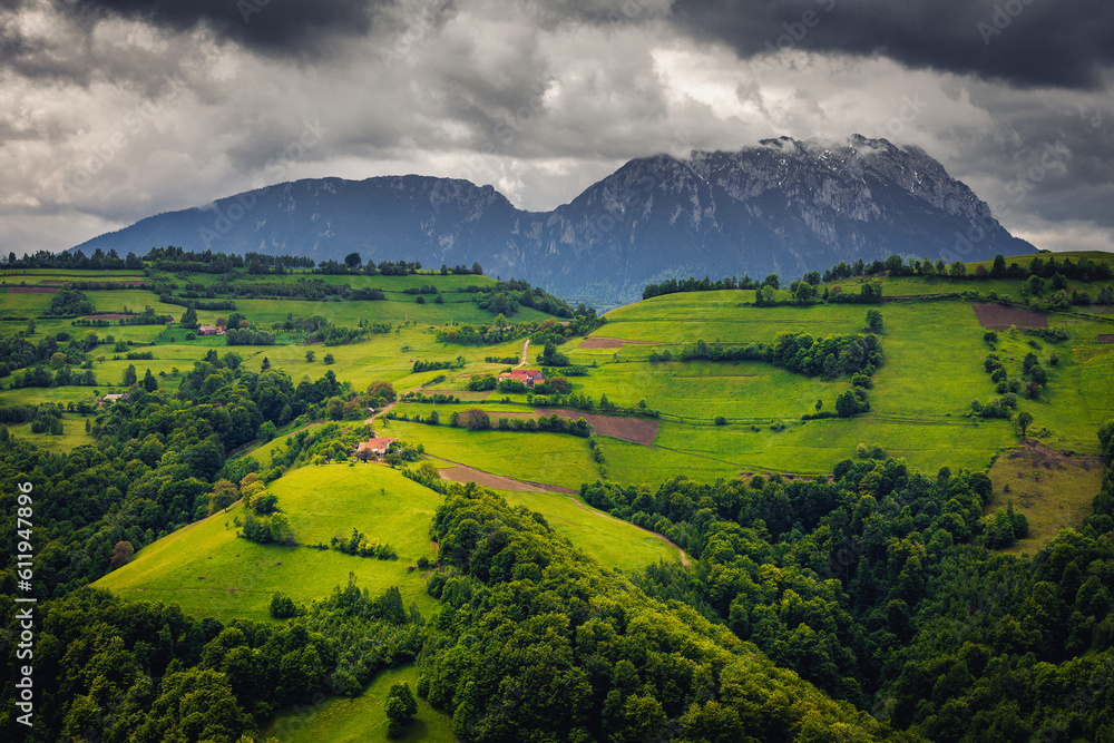
[[[1114,251],[1112,94],[1110,0],[0,0],[0,252],[302,177],[549,209],[634,157],[854,133]]]

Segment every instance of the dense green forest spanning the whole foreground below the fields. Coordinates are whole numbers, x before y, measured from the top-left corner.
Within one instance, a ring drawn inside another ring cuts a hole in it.
[[[1100,437],[1114,453],[1114,422]],[[453,485],[429,617],[351,581],[280,627],[90,589],[41,604],[39,678],[57,691],[31,740],[235,742],[413,659],[465,741],[1110,740],[1114,473],[1032,559],[979,544],[986,487],[892,459],[832,482],[587,486],[694,558],[632,585],[539,515]]]

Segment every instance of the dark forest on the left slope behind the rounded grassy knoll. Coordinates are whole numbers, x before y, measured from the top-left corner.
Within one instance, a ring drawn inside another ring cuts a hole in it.
[[[177,395],[134,384],[128,400],[91,417],[96,446],[53,454],[2,429],[3,538],[17,541],[17,483],[35,483],[36,590],[40,598],[62,596],[105,575],[119,542],[138,550],[208,516],[213,483],[231,452],[268,424],[274,430],[325,417],[345,389],[331,370],[295,387],[284,371],[248,372],[237,354],[214,350],[186,373]],[[306,441],[295,440],[299,447]],[[223,473],[238,480],[253,469],[253,460],[241,459]],[[274,479],[281,470],[263,475]],[[0,585],[10,594],[14,554],[2,560]]]

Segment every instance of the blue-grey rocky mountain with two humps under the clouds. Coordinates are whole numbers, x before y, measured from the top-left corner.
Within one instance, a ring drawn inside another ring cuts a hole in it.
[[[859,135],[638,158],[551,212],[518,209],[491,186],[449,178],[296,180],[148,217],[75,250],[141,255],[157,245],[478,261],[489,275],[606,305],[691,274],[795,278],[893,253],[951,262],[1036,250],[924,150]]]

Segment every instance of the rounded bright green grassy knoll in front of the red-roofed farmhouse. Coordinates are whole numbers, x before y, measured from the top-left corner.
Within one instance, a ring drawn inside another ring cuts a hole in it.
[[[236,537],[237,504],[159,539],[97,586],[130,598],[177,602],[185,612],[228,620],[268,617],[275,592],[296,603],[326,596],[354,573],[372,594],[399,586],[407,604],[423,609],[433,600],[417,570],[419,557],[434,558],[429,521],[441,497],[384,467],[333,465],[295,470],[270,489],[278,496],[301,544],[329,542],[353,528],[390,542],[398,560],[353,557],[309,547],[257,545]]]

